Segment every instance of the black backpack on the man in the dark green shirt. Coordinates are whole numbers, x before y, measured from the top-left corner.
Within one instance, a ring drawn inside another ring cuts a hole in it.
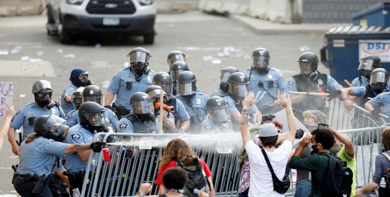
[[[347,167],[347,162],[344,162],[339,157],[330,155],[329,153],[321,153],[329,157],[328,169],[326,170],[324,184],[320,186],[322,194],[332,197],[343,197],[351,195],[351,185],[353,180],[353,172]]]

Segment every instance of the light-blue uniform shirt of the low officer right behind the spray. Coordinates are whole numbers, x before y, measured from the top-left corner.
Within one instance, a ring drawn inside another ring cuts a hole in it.
[[[226,122],[214,122],[212,117],[207,117],[202,121],[200,131],[202,133],[208,133],[211,131],[214,131],[214,133],[234,132],[231,120]]]

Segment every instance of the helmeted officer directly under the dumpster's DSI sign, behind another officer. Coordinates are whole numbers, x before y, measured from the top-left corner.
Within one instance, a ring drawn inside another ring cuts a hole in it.
[[[359,77],[352,80],[352,86],[363,86],[370,84],[371,73],[375,68],[382,67],[382,62],[377,55],[368,55],[360,60],[357,70],[360,70]],[[363,72],[363,73],[362,73]]]

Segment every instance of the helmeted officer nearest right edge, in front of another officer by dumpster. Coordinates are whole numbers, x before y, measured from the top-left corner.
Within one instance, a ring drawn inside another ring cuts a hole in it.
[[[348,99],[348,95],[357,96],[357,104],[364,107],[369,101],[368,98],[375,98],[381,93],[389,92],[388,89],[389,72],[384,68],[376,68],[372,71],[370,85],[350,87],[341,90],[340,96],[344,101],[344,106],[351,109],[353,101]]]

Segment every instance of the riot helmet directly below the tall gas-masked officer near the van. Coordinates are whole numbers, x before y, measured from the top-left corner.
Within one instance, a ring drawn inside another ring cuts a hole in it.
[[[150,119],[154,116],[154,107],[148,94],[144,92],[134,93],[130,97],[130,105],[133,114],[140,120]]]

